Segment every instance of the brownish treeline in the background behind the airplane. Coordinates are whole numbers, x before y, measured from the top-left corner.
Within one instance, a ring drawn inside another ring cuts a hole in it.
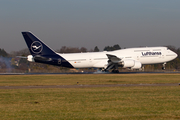
[[[166,70],[180,70],[180,48],[176,49],[174,46],[167,46],[169,49],[178,54],[178,57],[173,61],[167,62]],[[113,51],[121,49],[121,47],[116,44],[114,46],[106,46],[104,47],[104,51]],[[56,50],[58,53],[81,53],[81,52],[99,52],[99,48],[96,46],[94,49],[88,50],[85,47],[77,48],[77,47],[66,47],[62,46],[59,50]],[[28,49],[23,49],[20,51],[13,51],[11,53],[7,53],[4,49],[0,49],[0,71],[2,68],[8,66],[8,68],[14,68],[19,71],[31,71],[31,72],[42,72],[43,70],[49,71],[57,71],[58,70],[68,70],[67,68],[62,67],[54,67],[51,65],[39,64],[28,62],[26,59],[18,58],[17,56],[25,56],[29,55]],[[5,59],[8,58],[8,59]],[[9,60],[11,58],[11,60]],[[11,65],[11,66],[10,66]],[[145,70],[160,70],[162,68],[162,64],[155,65],[145,65]]]

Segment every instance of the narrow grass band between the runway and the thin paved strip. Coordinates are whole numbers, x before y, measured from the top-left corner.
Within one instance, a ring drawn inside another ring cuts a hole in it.
[[[179,83],[180,74],[2,75],[0,86]]]

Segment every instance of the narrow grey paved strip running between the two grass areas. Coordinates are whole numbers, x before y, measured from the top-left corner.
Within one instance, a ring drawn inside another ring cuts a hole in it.
[[[0,86],[0,89],[39,89],[39,88],[93,88],[93,87],[140,87],[140,86],[179,86],[179,83],[164,84],[113,84],[113,85],[46,85],[46,86]]]

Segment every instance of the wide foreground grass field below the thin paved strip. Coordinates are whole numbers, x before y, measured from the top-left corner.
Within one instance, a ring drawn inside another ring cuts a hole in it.
[[[179,86],[0,90],[0,118],[180,119],[179,92]]]

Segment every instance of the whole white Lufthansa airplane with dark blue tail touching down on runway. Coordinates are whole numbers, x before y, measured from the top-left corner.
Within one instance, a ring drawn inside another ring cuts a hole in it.
[[[87,53],[57,53],[31,32],[22,32],[31,55],[30,62],[38,62],[68,68],[98,68],[102,71],[119,72],[118,67],[141,69],[146,64],[162,63],[177,57],[167,47],[126,48],[115,51]]]

